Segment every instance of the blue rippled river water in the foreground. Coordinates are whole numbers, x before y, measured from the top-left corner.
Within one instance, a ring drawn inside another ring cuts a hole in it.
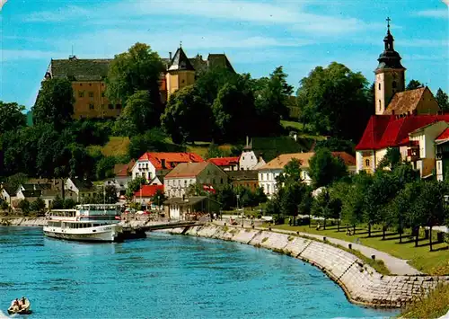
[[[120,244],[0,226],[0,310],[29,297],[31,318],[383,317],[352,305],[320,270],[250,245],[151,233]],[[1,315],[0,315],[1,316]]]

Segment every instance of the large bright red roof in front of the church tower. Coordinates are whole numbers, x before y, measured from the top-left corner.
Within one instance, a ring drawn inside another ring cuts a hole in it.
[[[394,115],[373,115],[356,149],[381,149],[404,145],[409,142],[410,132],[439,120],[449,122],[449,114],[409,115],[399,119]]]

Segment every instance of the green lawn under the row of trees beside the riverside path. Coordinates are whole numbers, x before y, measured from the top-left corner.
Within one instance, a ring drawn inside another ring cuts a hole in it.
[[[449,250],[447,250],[448,244],[445,243],[435,244],[434,250],[436,251],[429,252],[428,240],[421,239],[418,243],[418,247],[415,247],[413,240],[410,240],[409,237],[404,237],[402,241],[405,242],[405,244],[399,244],[399,235],[393,235],[392,232],[387,232],[386,239],[382,240],[382,232],[380,231],[375,231],[375,233],[372,234],[374,237],[370,238],[367,238],[367,234],[357,235],[358,232],[365,233],[365,230],[357,230],[356,235],[349,236],[346,235],[346,228],[340,228],[340,232],[338,232],[337,226],[326,227],[326,230],[316,230],[315,227],[309,228],[309,226],[288,225],[277,225],[273,226],[273,228],[329,236],[351,243],[354,243],[358,238],[360,244],[408,260],[409,264],[417,270],[432,275],[449,274]]]

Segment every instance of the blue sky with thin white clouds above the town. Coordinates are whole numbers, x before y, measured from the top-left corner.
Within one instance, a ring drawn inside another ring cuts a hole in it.
[[[374,80],[385,18],[417,79],[449,93],[449,0],[0,0],[0,100],[34,103],[50,58],[113,58],[136,41],[168,57],[222,53],[239,73],[284,66],[290,84],[332,61]]]

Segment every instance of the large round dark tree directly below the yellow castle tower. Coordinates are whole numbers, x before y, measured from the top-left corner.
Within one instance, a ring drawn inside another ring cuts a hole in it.
[[[198,119],[201,119],[201,125],[198,125]],[[209,139],[212,119],[210,107],[193,85],[172,93],[161,116],[163,129],[176,144]]]

